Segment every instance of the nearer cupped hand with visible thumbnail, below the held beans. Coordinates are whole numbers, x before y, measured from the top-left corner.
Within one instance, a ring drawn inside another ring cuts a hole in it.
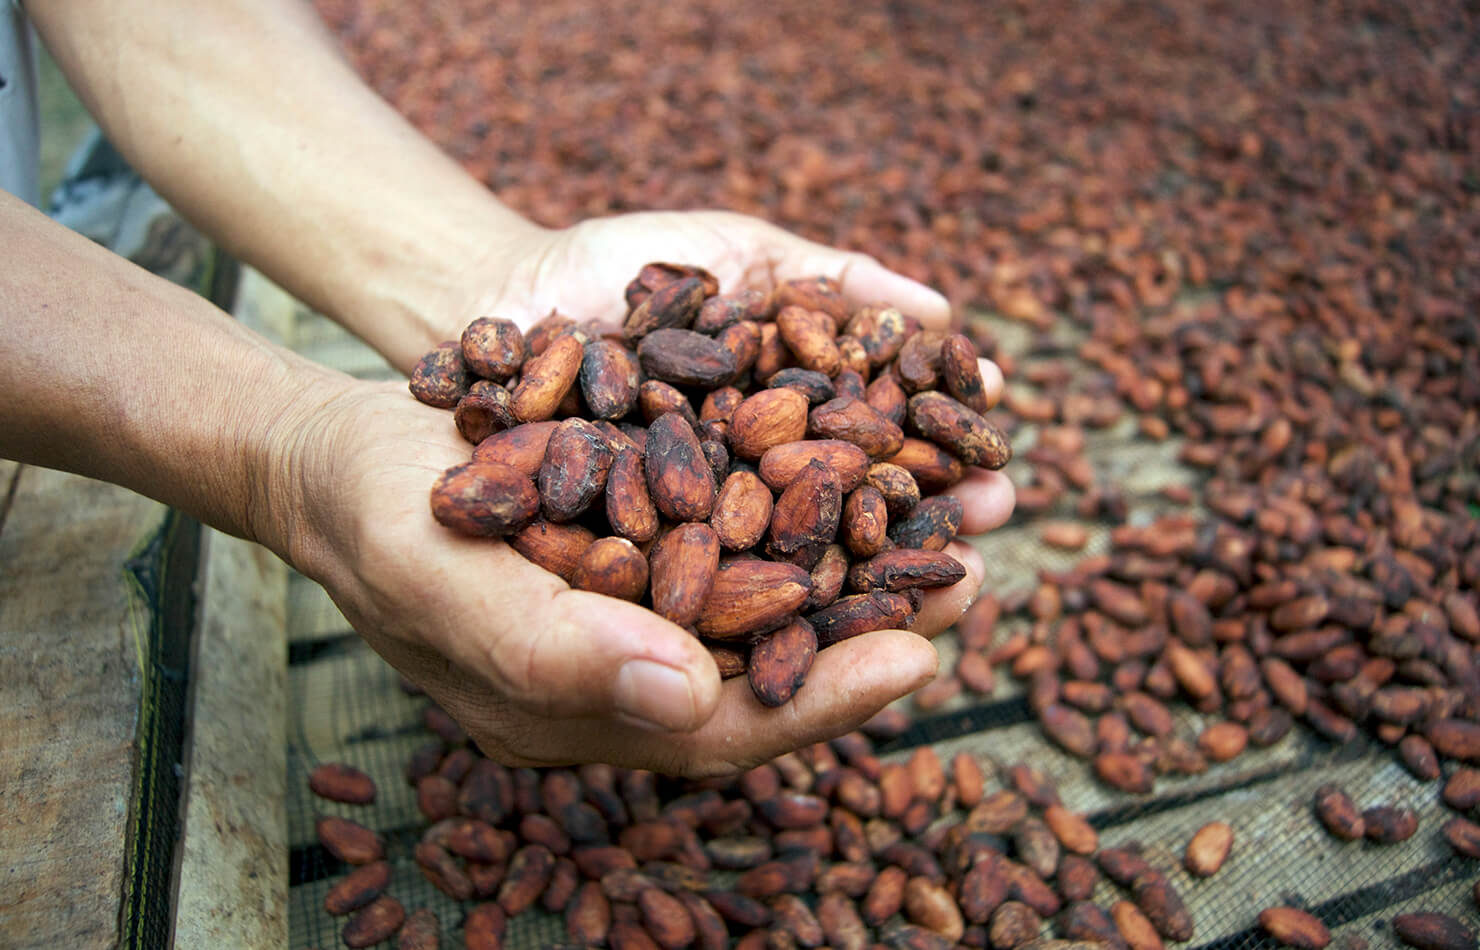
[[[450,413],[401,385],[351,383],[309,426],[290,462],[309,512],[295,525],[295,562],[506,764],[599,761],[706,777],[838,735],[934,675],[925,638],[981,586],[980,556],[953,543],[966,577],[926,596],[913,632],[820,651],[807,685],[768,709],[744,678],[721,682],[703,645],[653,611],[573,590],[503,542],[437,524],[432,482],[471,451]]]

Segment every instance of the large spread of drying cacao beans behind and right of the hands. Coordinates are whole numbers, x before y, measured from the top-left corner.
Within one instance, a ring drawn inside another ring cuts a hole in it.
[[[1135,793],[1296,725],[1376,738],[1468,823],[1473,7],[317,7],[392,104],[542,223],[755,213],[1027,327],[1014,349],[963,327],[1026,383],[993,414],[1033,439],[1020,516],[1066,549],[1109,528],[1111,550],[989,592],[932,707],[1012,672],[1054,741]],[[1193,508],[1131,521],[1141,499],[1086,451],[1128,419],[1206,472],[1166,493]],[[1202,734],[1169,725],[1184,703]],[[1311,804],[1341,838],[1407,832],[1363,805]],[[1473,848],[1462,824],[1444,836]],[[1291,946],[1331,940],[1295,907],[1258,920]],[[1393,923],[1413,946],[1474,940],[1428,914]]]

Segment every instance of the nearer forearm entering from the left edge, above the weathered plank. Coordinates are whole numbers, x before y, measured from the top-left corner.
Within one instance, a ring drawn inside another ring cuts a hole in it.
[[[290,432],[348,385],[0,192],[0,457],[102,478],[287,556]]]

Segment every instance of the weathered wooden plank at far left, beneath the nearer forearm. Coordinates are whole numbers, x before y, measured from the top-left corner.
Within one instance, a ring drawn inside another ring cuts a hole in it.
[[[12,947],[118,938],[147,607],[164,508],[27,466],[0,533],[0,917]]]

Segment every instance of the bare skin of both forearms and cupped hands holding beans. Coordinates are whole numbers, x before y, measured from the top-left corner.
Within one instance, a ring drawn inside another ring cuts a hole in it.
[[[622,289],[648,260],[699,263],[727,289],[827,274],[854,303],[949,318],[938,294],[867,257],[740,215],[537,228],[367,90],[306,4],[27,9],[161,194],[403,370],[482,314],[527,327],[555,306],[616,326]],[[934,675],[926,638],[980,587],[980,558],[956,543],[968,576],[928,596],[913,632],[830,647],[807,690],[765,709],[744,681],[722,684],[681,627],[438,525],[431,485],[468,445],[404,383],[277,348],[9,195],[0,226],[0,454],[263,543],[503,762],[715,775],[836,735]],[[995,397],[1000,373],[983,368]],[[974,471],[953,493],[966,533],[1011,512],[998,472]]]

